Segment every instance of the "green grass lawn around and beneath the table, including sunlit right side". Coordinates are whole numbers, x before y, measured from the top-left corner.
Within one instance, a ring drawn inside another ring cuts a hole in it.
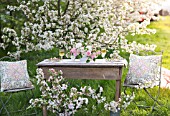
[[[149,44],[156,44],[157,45],[157,51],[164,50],[163,55],[163,66],[165,68],[170,69],[170,16],[164,17],[164,20],[155,21],[152,22],[151,25],[149,25],[149,28],[155,28],[157,30],[157,33],[154,35],[136,35],[136,36],[127,36],[129,41],[137,41],[139,43],[149,43]],[[36,64],[43,59],[51,58],[57,56],[57,49],[53,49],[51,51],[45,52],[45,51],[36,51],[36,52],[30,52],[28,54],[22,55],[21,59],[26,59],[28,61],[28,70],[31,77],[31,80],[33,84],[36,86],[36,80],[35,80],[35,71],[36,71]],[[123,70],[123,80],[125,79],[127,69]],[[123,83],[122,80],[122,83]],[[109,100],[114,99],[115,94],[115,81],[103,81],[103,80],[68,80],[70,82],[71,86],[85,86],[90,85],[94,88],[97,88],[98,85],[103,86],[104,88],[104,95],[107,96]],[[157,88],[151,89],[151,92],[153,95],[156,94]],[[123,88],[122,88],[123,91]],[[34,90],[35,96],[38,97],[40,92],[38,89],[38,86],[36,86],[36,89]],[[135,100],[140,101],[140,104],[146,104],[146,105],[152,105],[153,101],[149,99],[149,97],[143,92],[135,92]],[[23,98],[20,98],[19,96],[16,98],[19,99],[19,101],[23,101]],[[156,110],[151,113],[151,109],[144,109],[144,108],[138,108],[133,103],[130,104],[130,106],[126,110],[121,110],[121,116],[169,116],[170,115],[170,90],[169,89],[161,89],[161,94],[159,97],[159,101],[163,104],[163,106],[157,106]],[[89,110],[88,113],[84,110],[80,110],[75,114],[75,116],[109,116],[108,111],[104,111],[103,107],[98,106],[94,103],[94,101],[89,101],[90,104],[86,106]],[[92,105],[96,105],[97,109],[92,110]],[[11,107],[17,107],[17,104],[14,104],[14,106]],[[39,116],[42,116],[41,109],[38,110]],[[55,114],[50,113],[49,116],[53,116]]]

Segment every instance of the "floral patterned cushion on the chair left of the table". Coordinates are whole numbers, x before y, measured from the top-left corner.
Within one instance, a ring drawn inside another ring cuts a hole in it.
[[[27,61],[0,61],[0,81],[1,91],[32,87],[27,72]]]

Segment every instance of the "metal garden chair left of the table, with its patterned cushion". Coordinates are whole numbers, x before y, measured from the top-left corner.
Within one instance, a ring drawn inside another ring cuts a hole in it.
[[[33,89],[34,86],[29,80],[27,72],[26,60],[16,61],[8,56],[0,59],[0,116],[13,116],[14,113],[20,113],[22,115],[24,113],[24,116],[36,115],[36,110],[29,114],[27,112],[28,101],[30,99],[27,91],[30,90],[29,94],[31,94],[31,97],[34,97]],[[21,105],[21,102],[19,102],[17,107],[21,106],[21,108],[13,108],[16,101],[13,99],[23,96],[26,98],[27,103]],[[9,109],[11,107],[8,106],[11,106],[12,109]]]

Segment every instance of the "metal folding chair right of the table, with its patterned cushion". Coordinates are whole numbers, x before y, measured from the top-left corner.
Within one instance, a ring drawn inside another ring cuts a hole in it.
[[[134,92],[135,90],[144,90],[147,95],[154,101],[152,106],[142,106],[145,108],[152,107],[152,111],[158,102],[161,85],[161,67],[162,67],[161,52],[143,52],[142,54],[130,54],[129,57],[129,70],[124,81],[124,94],[127,95],[128,88]],[[158,86],[157,95],[153,96],[149,89]]]

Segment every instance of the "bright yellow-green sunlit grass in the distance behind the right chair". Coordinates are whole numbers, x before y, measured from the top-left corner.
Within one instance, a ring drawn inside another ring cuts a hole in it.
[[[163,50],[163,67],[170,69],[170,16],[161,17],[159,21],[151,22],[148,26],[157,30],[153,35],[128,36],[129,41],[156,44],[157,51]]]

